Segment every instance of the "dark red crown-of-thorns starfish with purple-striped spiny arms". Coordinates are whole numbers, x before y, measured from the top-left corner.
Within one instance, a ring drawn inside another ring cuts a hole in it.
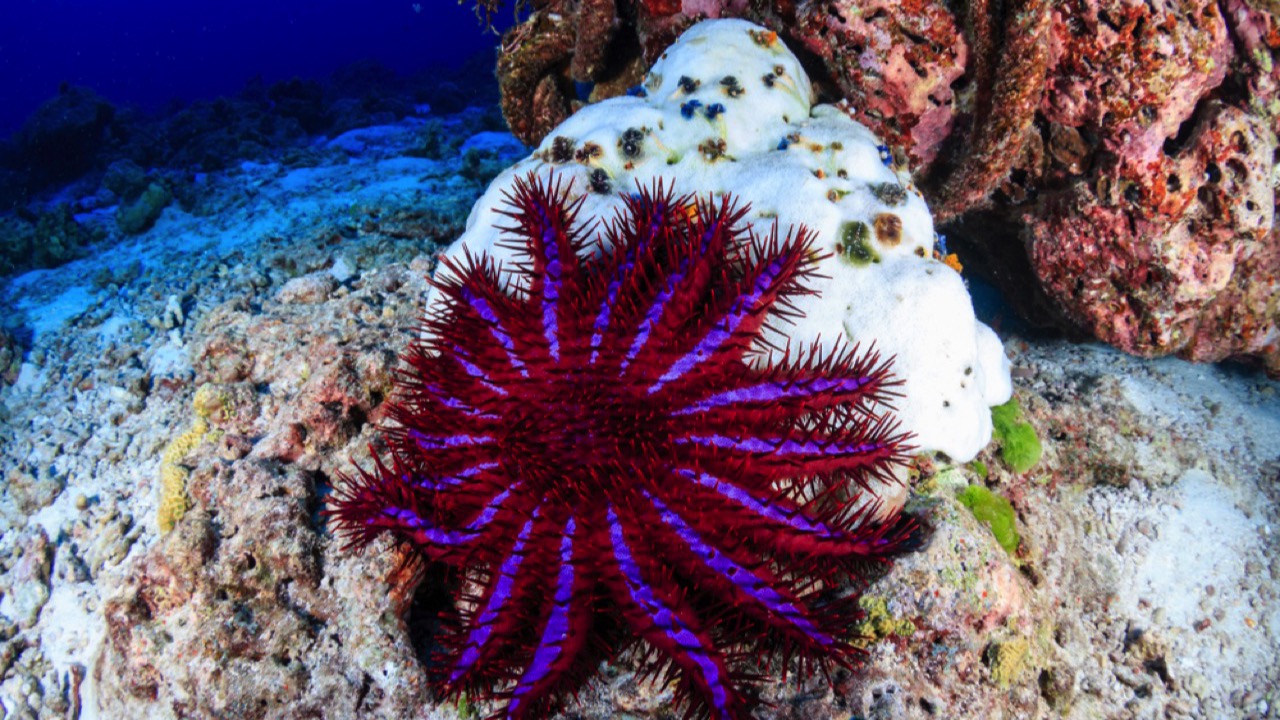
[[[748,717],[762,676],[858,660],[867,571],[913,542],[872,489],[909,450],[888,363],[753,363],[813,292],[804,228],[759,234],[730,199],[654,183],[593,238],[567,184],[513,182],[513,264],[445,261],[388,454],[329,512],[462,578],[447,696],[541,717],[639,646],[691,714]]]

